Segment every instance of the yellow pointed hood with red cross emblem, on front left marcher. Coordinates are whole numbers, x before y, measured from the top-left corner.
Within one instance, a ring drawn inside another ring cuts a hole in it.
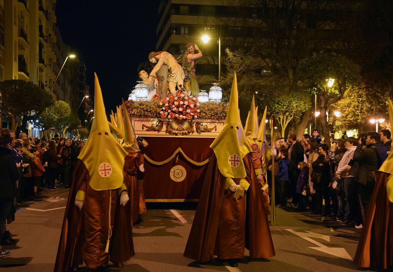
[[[110,133],[101,87],[94,73],[94,119],[89,139],[78,156],[89,172],[90,187],[96,191],[119,188],[123,184],[126,155]]]

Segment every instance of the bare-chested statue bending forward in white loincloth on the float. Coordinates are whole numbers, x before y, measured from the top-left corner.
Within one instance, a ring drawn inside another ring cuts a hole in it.
[[[168,52],[151,52],[149,54],[149,60],[152,63],[157,63],[152,69],[149,75],[149,83],[153,81],[154,75],[158,72],[161,66],[168,66],[168,88],[169,91],[176,95],[176,85],[180,90],[180,85],[183,86],[184,72],[182,66],[176,62],[176,59]]]

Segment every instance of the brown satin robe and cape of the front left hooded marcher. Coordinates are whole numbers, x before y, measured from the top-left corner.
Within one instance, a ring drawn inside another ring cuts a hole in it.
[[[123,170],[124,173],[124,170]],[[98,268],[110,261],[119,263],[134,256],[132,223],[127,223],[125,208],[119,204],[118,190],[95,191],[89,185],[90,175],[78,160],[68,195],[54,272],[73,271],[86,263]],[[86,192],[82,210],[75,206],[78,190]],[[109,231],[109,196],[111,195],[111,229],[109,254],[105,246]]]

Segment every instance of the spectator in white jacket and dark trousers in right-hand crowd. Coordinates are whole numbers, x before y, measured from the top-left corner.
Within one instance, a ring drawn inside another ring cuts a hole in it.
[[[336,177],[342,179],[345,191],[345,221],[340,224],[355,226],[355,218],[358,213],[358,183],[354,180],[356,167],[351,168],[348,163],[353,158],[356,148],[358,148],[358,141],[354,137],[348,137],[344,141],[347,151],[339,162],[336,171]]]

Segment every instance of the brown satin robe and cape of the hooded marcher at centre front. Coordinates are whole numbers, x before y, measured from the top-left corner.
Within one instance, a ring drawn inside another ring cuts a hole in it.
[[[250,187],[236,200],[233,192],[224,189],[226,177],[220,173],[215,154],[211,156],[184,257],[202,263],[211,261],[213,255],[241,259],[245,246],[250,257],[275,255],[251,155],[247,154],[243,161],[246,172],[253,175],[251,179],[246,177]],[[239,184],[240,179],[234,181]]]

